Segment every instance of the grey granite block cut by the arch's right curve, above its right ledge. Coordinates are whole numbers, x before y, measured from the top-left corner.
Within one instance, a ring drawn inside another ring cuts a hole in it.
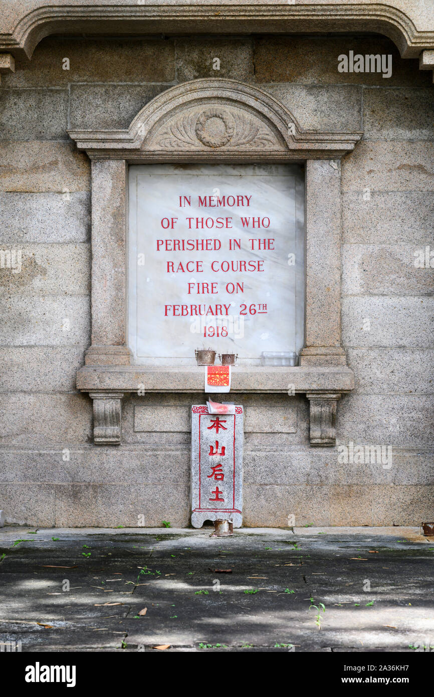
[[[362,130],[362,88],[352,85],[258,85],[282,102],[306,130]]]

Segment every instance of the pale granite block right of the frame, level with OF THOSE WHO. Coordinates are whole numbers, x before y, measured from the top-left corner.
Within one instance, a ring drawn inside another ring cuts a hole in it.
[[[369,190],[342,197],[344,243],[425,245],[433,238],[433,219],[431,191]]]

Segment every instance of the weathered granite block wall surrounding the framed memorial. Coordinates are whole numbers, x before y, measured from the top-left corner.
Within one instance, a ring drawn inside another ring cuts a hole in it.
[[[392,54],[392,77],[338,72],[350,50]],[[343,346],[356,388],[339,403],[336,448],[324,449],[309,445],[304,397],[237,397],[245,525],[432,520],[434,269],[416,268],[414,252],[434,251],[434,88],[431,72],[369,35],[49,37],[3,75],[0,249],[22,252],[20,273],[0,269],[6,521],[189,524],[187,417],[203,395],[128,397],[123,444],[92,443],[91,400],[75,388],[91,330],[90,162],[67,130],[126,128],[155,95],[196,77],[255,84],[303,128],[364,131],[341,169]],[[158,406],[150,429],[146,408]],[[392,466],[339,461],[350,443],[392,447]]]

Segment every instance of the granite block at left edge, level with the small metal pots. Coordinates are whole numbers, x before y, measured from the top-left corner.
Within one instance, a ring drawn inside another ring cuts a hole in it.
[[[5,392],[75,391],[77,370],[87,346],[0,347],[0,390]]]

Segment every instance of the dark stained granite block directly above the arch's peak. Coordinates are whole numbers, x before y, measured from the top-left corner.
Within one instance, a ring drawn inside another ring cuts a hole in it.
[[[176,39],[178,82],[197,77],[230,77],[248,82],[253,79],[253,70],[253,49],[249,38]]]

